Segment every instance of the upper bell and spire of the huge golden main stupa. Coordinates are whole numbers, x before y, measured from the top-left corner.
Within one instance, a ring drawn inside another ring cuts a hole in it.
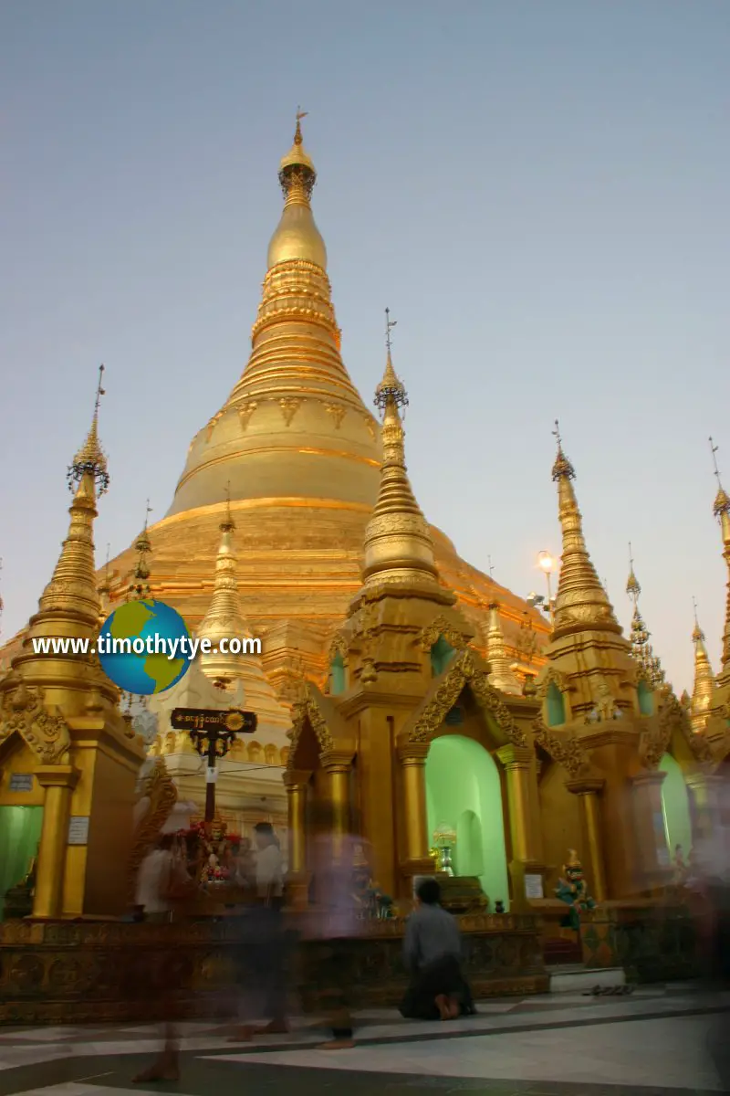
[[[340,355],[327,251],[312,214],[316,171],[297,111],[279,164],[283,209],[268,247],[252,351],[223,406],[196,434],[169,515],[231,499],[328,499],[371,504],[381,447]]]

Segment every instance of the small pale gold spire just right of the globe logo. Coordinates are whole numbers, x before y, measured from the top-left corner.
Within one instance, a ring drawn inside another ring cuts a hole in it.
[[[221,639],[237,639],[250,635],[239,597],[237,557],[233,545],[235,523],[231,514],[230,488],[228,492],[225,512],[219,526],[220,543],[213,593],[208,612],[197,629],[198,639],[208,639],[211,644],[211,651],[200,655],[202,672],[206,677],[221,684],[242,676],[241,655],[218,652]]]

